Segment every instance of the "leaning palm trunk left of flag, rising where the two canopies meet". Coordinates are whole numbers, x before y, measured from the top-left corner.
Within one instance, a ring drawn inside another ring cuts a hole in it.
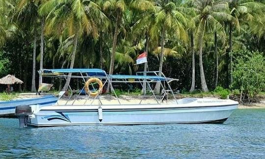
[[[119,31],[119,24],[121,19],[121,11],[117,11],[116,23],[115,23],[115,31],[113,36],[113,43],[112,43],[112,50],[111,50],[111,57],[110,57],[110,66],[109,66],[109,75],[112,75],[114,70],[114,61],[115,61],[115,53],[116,53],[116,46],[117,46],[117,36]]]

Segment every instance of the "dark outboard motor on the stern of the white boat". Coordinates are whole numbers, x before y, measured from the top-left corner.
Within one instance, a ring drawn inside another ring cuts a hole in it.
[[[32,114],[31,107],[27,105],[16,106],[16,116],[19,118],[19,127],[27,128],[27,117]]]

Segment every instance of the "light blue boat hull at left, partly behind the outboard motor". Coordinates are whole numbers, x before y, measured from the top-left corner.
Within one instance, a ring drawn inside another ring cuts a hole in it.
[[[50,106],[57,102],[58,98],[53,95],[47,95],[38,98],[30,99],[20,99],[13,101],[2,101],[0,102],[0,116],[7,114],[14,114],[16,106],[21,105],[40,105],[40,106]]]

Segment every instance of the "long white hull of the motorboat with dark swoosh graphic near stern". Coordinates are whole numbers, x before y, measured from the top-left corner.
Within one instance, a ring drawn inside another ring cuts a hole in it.
[[[59,106],[57,106],[59,107]],[[42,109],[28,125],[36,127],[74,125],[138,125],[138,124],[191,124],[223,123],[238,105],[226,106],[162,106],[145,108],[83,108],[65,107]],[[102,118],[100,118],[102,116]]]

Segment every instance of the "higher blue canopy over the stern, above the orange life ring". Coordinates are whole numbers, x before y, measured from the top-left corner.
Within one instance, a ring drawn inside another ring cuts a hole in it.
[[[43,74],[65,74],[65,73],[87,73],[89,76],[106,76],[106,72],[101,69],[43,69]]]

